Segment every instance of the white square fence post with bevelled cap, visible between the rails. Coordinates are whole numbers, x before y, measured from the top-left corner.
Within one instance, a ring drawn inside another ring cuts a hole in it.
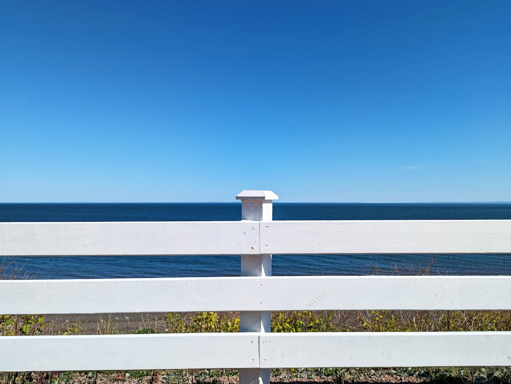
[[[241,200],[241,219],[271,221],[272,200],[279,197],[269,190],[243,190],[236,196]],[[271,254],[242,254],[242,276],[271,276]],[[240,312],[241,332],[270,332],[271,312]],[[270,384],[270,370],[240,369],[240,384]]]

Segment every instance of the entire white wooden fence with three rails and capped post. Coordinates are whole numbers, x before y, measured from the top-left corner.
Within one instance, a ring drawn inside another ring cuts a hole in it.
[[[0,281],[0,313],[240,311],[240,333],[2,336],[0,371],[510,366],[511,332],[271,333],[270,311],[510,310],[511,276],[270,277],[271,254],[511,253],[511,220],[0,223],[0,256],[241,255],[236,278]],[[297,256],[299,260],[299,256]]]

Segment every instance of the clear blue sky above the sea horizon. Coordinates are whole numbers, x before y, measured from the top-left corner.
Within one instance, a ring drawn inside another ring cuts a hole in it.
[[[0,202],[511,201],[507,0],[0,10]]]

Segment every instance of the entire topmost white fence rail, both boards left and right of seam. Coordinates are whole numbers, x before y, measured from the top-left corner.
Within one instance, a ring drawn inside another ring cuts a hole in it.
[[[0,256],[509,252],[511,220],[0,223]]]

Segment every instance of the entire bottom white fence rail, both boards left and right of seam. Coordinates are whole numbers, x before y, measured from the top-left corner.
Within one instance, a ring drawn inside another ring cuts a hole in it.
[[[511,365],[511,332],[3,336],[0,346],[0,371]]]

